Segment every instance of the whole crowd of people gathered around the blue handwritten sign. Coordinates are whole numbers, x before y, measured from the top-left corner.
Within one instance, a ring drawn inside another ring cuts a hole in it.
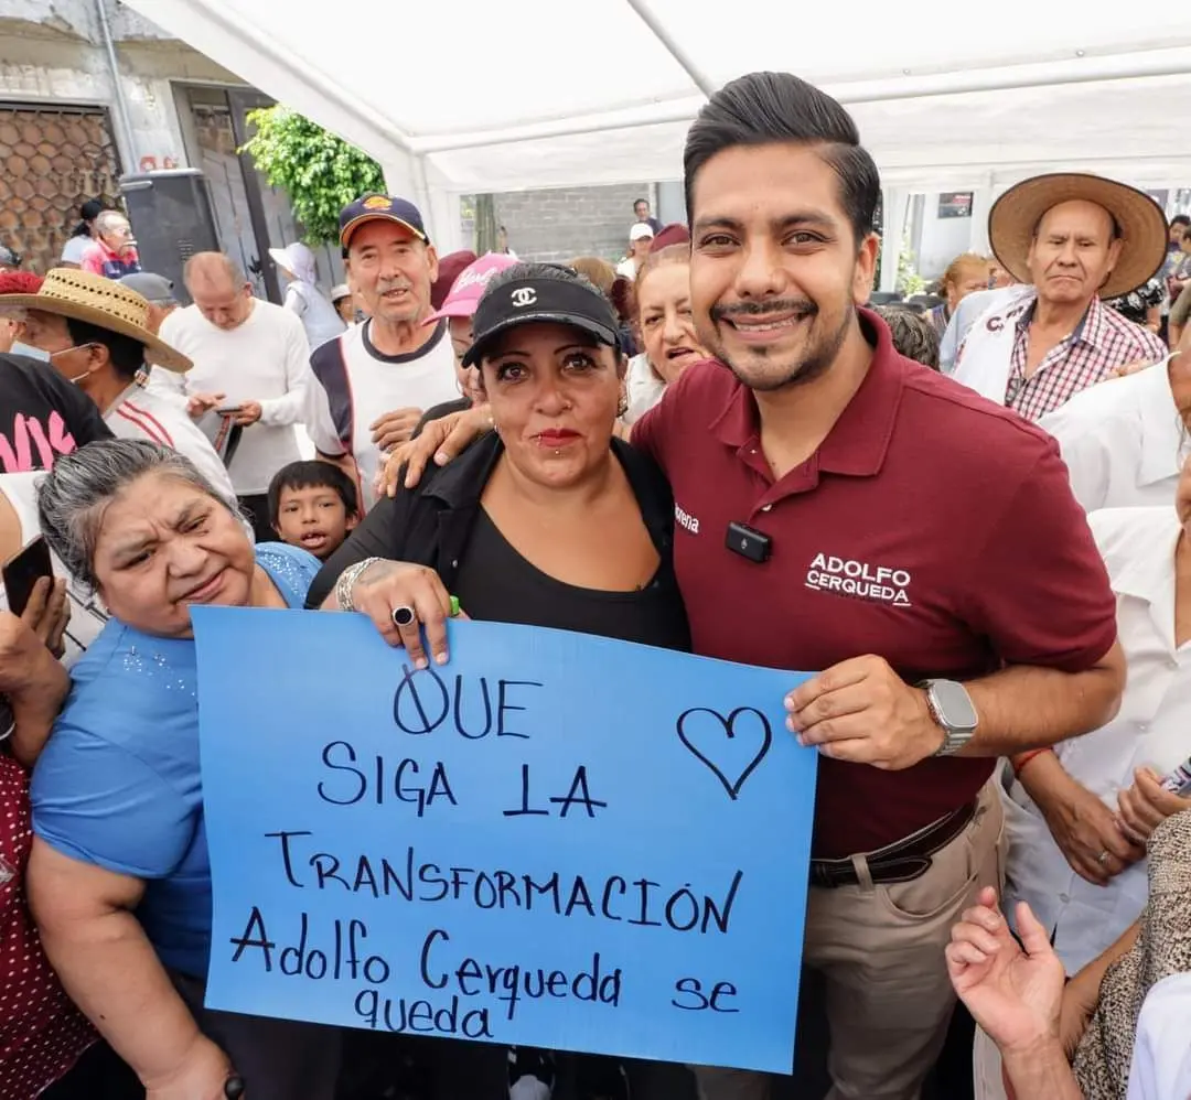
[[[367,194],[326,298],[294,244],[283,305],[202,252],[182,306],[89,205],[0,273],[0,561],[49,561],[0,611],[2,1100],[1191,1095],[1185,219],[1037,176],[994,263],[871,308],[838,102],[741,77],[684,171],[617,264],[439,257]],[[779,1079],[205,1007],[195,604],[363,614],[419,667],[462,606],[813,673],[825,1043]]]

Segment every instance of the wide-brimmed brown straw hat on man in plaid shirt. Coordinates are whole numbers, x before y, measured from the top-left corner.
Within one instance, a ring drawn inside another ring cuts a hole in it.
[[[1100,298],[1120,298],[1149,282],[1166,260],[1168,230],[1161,207],[1135,187],[1080,171],[1033,176],[993,204],[989,242],[1000,265],[1018,282],[1031,282],[1027,260],[1042,215],[1075,200],[1103,206],[1121,231],[1121,255]]]

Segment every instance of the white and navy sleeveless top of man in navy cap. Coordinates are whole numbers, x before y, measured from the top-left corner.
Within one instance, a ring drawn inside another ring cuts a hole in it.
[[[307,417],[310,437],[324,455],[355,458],[366,508],[375,501],[373,479],[380,451],[372,429],[385,413],[459,399],[455,351],[439,321],[434,336],[409,355],[382,355],[368,337],[372,321],[314,349],[310,357],[317,387]]]

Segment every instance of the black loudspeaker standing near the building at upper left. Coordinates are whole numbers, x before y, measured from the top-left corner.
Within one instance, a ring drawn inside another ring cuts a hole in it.
[[[191,304],[182,268],[195,252],[218,252],[219,235],[206,179],[197,168],[172,168],[120,180],[137,239],[141,268],[174,282],[174,296]]]

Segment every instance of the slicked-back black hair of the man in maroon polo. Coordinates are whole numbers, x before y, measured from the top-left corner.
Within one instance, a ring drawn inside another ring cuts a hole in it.
[[[819,146],[840,177],[840,199],[856,244],[873,230],[881,194],[877,164],[860,144],[852,115],[830,95],[790,73],[749,73],[704,104],[682,154],[687,217],[694,221],[694,177],[717,152],[737,145],[792,142]]]

